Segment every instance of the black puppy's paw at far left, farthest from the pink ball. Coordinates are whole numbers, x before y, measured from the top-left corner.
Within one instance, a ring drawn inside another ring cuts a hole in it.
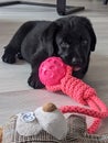
[[[4,53],[2,56],[2,61],[4,63],[13,64],[13,63],[15,63],[15,56]]]

